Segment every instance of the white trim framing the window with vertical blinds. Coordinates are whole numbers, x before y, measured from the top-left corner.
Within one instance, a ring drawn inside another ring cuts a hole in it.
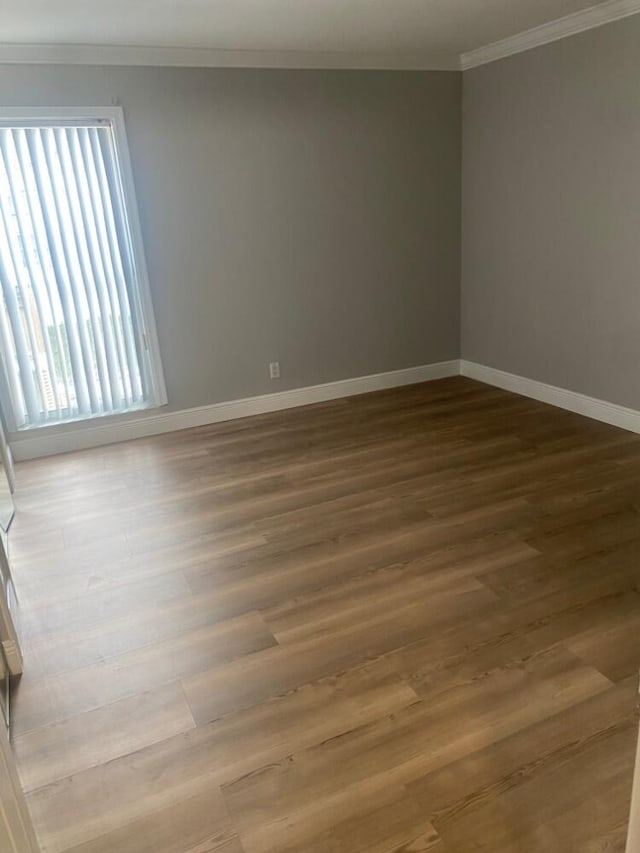
[[[140,343],[141,346],[148,351],[149,362],[151,363],[150,375],[146,378],[149,387],[152,389],[152,402],[149,406],[138,411],[145,411],[151,408],[159,408],[168,402],[167,388],[164,380],[164,370],[162,368],[162,359],[160,356],[160,345],[158,342],[158,332],[156,329],[155,316],[153,311],[153,302],[151,300],[151,287],[149,284],[149,272],[147,269],[147,261],[144,251],[144,243],[142,240],[142,227],[140,224],[140,214],[138,212],[138,203],[136,199],[136,190],[133,180],[133,169],[131,167],[131,157],[129,154],[129,144],[127,142],[127,131],[124,121],[124,110],[120,106],[109,107],[0,107],[0,121],[100,121],[107,120],[111,122],[113,127],[114,144],[116,148],[117,161],[120,167],[120,177],[122,180],[122,192],[127,211],[129,230],[131,233],[131,244],[133,249],[132,263],[136,272],[137,287],[135,288],[136,298],[136,314],[141,321],[141,327],[138,330],[139,334],[146,337]],[[141,365],[141,368],[146,370],[146,365]],[[149,372],[149,371],[147,371]],[[135,410],[132,410],[132,412]],[[13,419],[11,410],[4,411],[3,416],[6,420],[8,431],[10,433],[17,432],[16,424]],[[126,413],[125,413],[126,414]],[[97,415],[96,418],[117,417],[118,414]],[[82,423],[91,422],[96,418],[82,418],[67,423]],[[47,424],[36,426],[32,429],[43,430],[47,429]],[[31,431],[31,430],[30,430]]]

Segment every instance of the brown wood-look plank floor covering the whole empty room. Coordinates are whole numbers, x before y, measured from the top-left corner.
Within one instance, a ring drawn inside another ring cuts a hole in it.
[[[22,463],[44,851],[623,851],[640,436],[455,378]]]

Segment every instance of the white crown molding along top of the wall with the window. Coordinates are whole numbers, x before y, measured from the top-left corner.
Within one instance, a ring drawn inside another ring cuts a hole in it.
[[[349,53],[298,50],[222,50],[135,45],[0,43],[0,64],[156,65],[183,68],[335,68],[459,71],[453,52]]]

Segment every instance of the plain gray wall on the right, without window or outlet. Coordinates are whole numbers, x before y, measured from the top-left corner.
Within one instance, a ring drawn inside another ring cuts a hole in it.
[[[640,408],[640,16],[463,90],[464,358]]]

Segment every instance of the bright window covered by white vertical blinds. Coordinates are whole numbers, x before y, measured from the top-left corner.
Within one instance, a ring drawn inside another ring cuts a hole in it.
[[[10,429],[166,402],[122,111],[69,112],[0,113]]]

